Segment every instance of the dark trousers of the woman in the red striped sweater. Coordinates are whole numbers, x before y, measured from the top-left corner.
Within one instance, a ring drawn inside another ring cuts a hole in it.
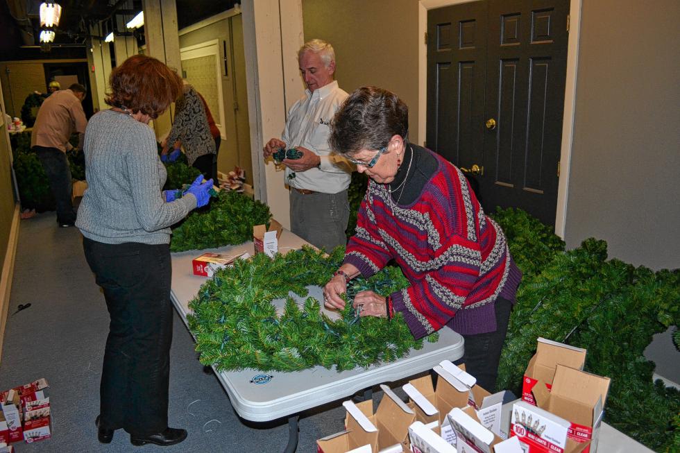
[[[456,364],[465,364],[466,372],[477,378],[477,385],[494,392],[498,378],[500,352],[508,332],[512,302],[498,298],[495,302],[496,330],[488,334],[464,335],[465,352]]]

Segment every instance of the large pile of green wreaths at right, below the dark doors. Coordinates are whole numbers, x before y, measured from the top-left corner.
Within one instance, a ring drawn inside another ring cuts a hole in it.
[[[527,362],[543,336],[586,348],[584,370],[611,377],[605,421],[658,452],[680,451],[680,391],[652,382],[643,352],[680,321],[680,270],[658,272],[607,260],[606,242],[563,242],[521,210],[495,219],[524,278],[510,318],[497,388],[519,394]]]

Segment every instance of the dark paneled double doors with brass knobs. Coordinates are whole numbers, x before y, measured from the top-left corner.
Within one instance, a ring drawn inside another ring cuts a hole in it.
[[[470,170],[486,212],[520,207],[554,225],[568,10],[485,0],[428,12],[427,146]]]

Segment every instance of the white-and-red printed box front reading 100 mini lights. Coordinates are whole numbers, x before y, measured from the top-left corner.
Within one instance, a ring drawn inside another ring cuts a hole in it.
[[[570,423],[526,401],[516,402],[510,421],[510,435],[517,436],[529,453],[563,453]]]

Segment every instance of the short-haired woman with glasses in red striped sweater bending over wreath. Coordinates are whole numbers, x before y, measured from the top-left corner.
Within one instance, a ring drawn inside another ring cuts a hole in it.
[[[335,115],[331,148],[370,179],[357,232],[324,287],[325,305],[344,307],[340,295],[352,277],[370,277],[394,260],[409,287],[387,298],[358,293],[360,314],[398,311],[416,338],[444,325],[459,332],[468,373],[493,391],[522,274],[463,173],[407,142],[408,124],[407,105],[376,87],[357,89]]]

